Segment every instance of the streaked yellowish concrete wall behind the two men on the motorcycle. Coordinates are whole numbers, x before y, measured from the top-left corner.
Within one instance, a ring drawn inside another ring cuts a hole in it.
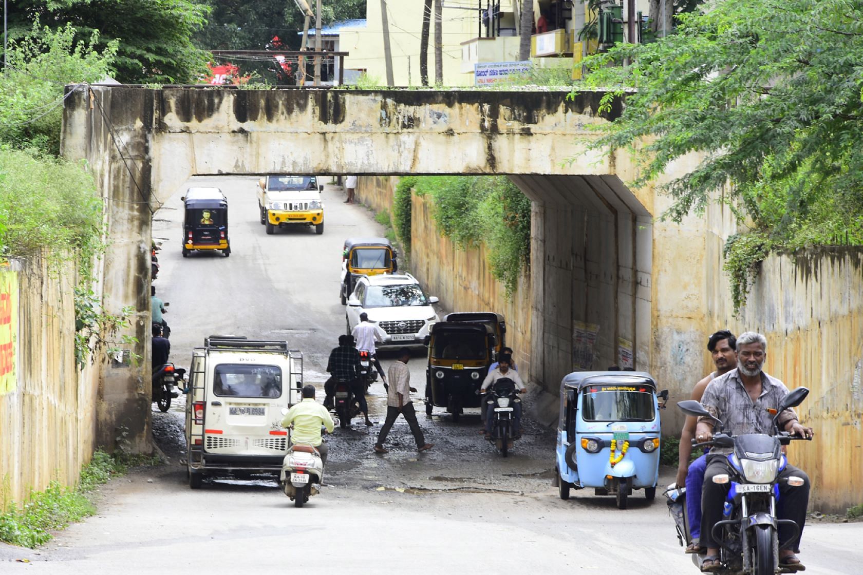
[[[709,309],[717,325],[765,334],[765,371],[791,389],[809,388],[797,412],[816,436],[793,443],[788,456],[812,479],[811,507],[844,513],[863,503],[863,250],[771,256],[740,320],[731,316],[728,281]]]

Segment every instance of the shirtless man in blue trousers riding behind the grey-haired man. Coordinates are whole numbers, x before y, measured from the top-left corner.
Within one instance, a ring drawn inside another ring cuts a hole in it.
[[[692,397],[700,402],[707,385],[715,378],[730,372],[737,367],[737,355],[734,349],[737,339],[728,329],[722,329],[710,335],[707,349],[710,358],[716,366],[715,372],[710,372],[692,389]],[[690,463],[692,454],[692,438],[696,436],[696,418],[686,416],[683,431],[680,434],[680,457],[677,464],[677,487],[686,485],[686,513],[690,520],[690,536],[692,542],[686,547],[686,553],[698,553],[701,549],[699,541],[701,534],[701,498],[704,469],[707,467],[707,453]]]

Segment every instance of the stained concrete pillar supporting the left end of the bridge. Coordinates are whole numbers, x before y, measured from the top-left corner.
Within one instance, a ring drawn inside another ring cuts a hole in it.
[[[149,452],[150,158],[153,91],[94,89],[66,98],[61,153],[85,159],[104,200],[110,238],[96,271],[97,293],[112,315],[135,309],[125,334],[138,365],[101,364],[96,402],[97,444],[107,450],[123,437],[134,452]]]

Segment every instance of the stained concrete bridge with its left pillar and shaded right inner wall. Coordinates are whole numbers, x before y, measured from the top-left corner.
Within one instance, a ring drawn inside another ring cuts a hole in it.
[[[104,366],[100,442],[149,448],[149,242],[155,209],[192,175],[507,174],[531,198],[530,378],[556,393],[574,369],[657,372],[652,191],[588,153],[602,94],[566,91],[241,91],[94,86],[66,99],[62,153],[91,166],[108,207],[106,309],[138,309],[142,366]],[[595,337],[595,346],[579,339]],[[577,341],[576,341],[577,340]],[[582,347],[579,347],[581,342]],[[585,357],[585,353],[589,356]]]

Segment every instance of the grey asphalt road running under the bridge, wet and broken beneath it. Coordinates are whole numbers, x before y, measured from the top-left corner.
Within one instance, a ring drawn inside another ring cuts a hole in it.
[[[323,384],[327,355],[344,329],[337,293],[343,240],[381,234],[381,227],[328,186],[323,235],[307,228],[266,235],[255,179],[194,180],[228,196],[232,254],[180,256],[181,191],[156,214],[154,237],[163,249],[155,285],[171,303],[173,361],[187,366],[207,334],[287,338],[305,355],[306,381]],[[384,355],[385,369],[391,360]],[[422,390],[423,353],[410,366]],[[0,561],[31,561],[0,572],[697,572],[677,545],[662,497],[648,503],[636,494],[625,511],[589,490],[558,499],[551,487],[554,436],[538,423],[526,421],[524,439],[502,459],[477,434],[478,416],[456,424],[436,409],[431,420],[419,416],[435,443],[430,453],[416,453],[400,421],[388,441],[391,453],[377,455],[372,447],[385,411],[380,384],[369,403],[377,424],[337,429],[329,486],[304,509],[294,509],[267,478],[190,490],[179,463],[182,410],[154,412],[167,464],[112,481],[98,516],[38,552],[0,546]],[[660,484],[672,480],[671,469],[663,469]],[[801,554],[807,572],[860,573],[861,538],[863,523],[809,524]]]

